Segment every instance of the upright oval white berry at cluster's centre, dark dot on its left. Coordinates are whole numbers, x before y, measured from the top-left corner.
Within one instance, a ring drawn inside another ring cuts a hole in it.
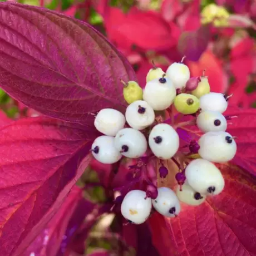
[[[149,135],[149,146],[160,159],[170,159],[179,149],[179,135],[168,124],[158,124]]]

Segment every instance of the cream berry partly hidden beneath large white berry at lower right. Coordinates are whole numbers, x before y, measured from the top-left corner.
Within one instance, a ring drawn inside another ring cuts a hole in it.
[[[178,199],[188,205],[200,205],[206,199],[205,195],[201,195],[199,192],[196,192],[189,184],[183,184],[182,190],[179,186],[176,188],[176,195]]]

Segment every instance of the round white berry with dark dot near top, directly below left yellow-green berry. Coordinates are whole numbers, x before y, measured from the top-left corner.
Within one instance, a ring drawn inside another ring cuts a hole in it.
[[[143,130],[155,121],[155,112],[146,101],[138,100],[127,107],[125,118],[132,128]]]

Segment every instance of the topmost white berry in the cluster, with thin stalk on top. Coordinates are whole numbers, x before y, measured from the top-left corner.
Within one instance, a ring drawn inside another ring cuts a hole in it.
[[[185,64],[175,62],[168,67],[166,75],[174,83],[176,89],[181,89],[186,86],[186,82],[190,78],[190,71]]]

